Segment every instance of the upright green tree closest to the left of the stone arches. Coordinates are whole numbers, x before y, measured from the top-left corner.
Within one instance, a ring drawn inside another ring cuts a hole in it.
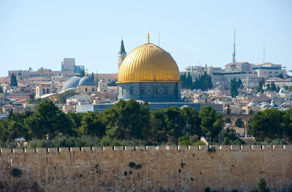
[[[210,137],[211,141],[213,141],[221,131],[222,116],[222,114],[216,113],[216,110],[211,106],[201,107],[199,112],[199,117],[201,119],[200,127],[202,128],[203,134]]]

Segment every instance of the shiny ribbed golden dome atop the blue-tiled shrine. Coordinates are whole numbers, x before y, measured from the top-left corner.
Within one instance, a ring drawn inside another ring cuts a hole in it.
[[[153,81],[180,82],[180,72],[169,53],[154,44],[146,43],[131,51],[123,60],[118,83]]]

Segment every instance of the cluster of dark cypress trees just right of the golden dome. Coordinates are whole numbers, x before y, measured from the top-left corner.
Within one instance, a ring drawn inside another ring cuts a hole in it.
[[[202,91],[205,91],[213,88],[212,78],[210,74],[207,75],[206,72],[199,76],[199,78],[196,78],[194,82],[190,72],[188,72],[187,76],[186,73],[181,74],[180,80],[183,82],[182,87],[186,89],[201,89]]]

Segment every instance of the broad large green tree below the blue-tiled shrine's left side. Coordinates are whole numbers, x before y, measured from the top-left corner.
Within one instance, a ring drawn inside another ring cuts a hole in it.
[[[144,127],[149,122],[149,106],[135,99],[119,100],[101,113],[106,134],[117,139],[142,139]]]

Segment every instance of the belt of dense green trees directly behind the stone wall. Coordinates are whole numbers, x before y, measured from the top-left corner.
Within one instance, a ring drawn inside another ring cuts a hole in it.
[[[92,142],[96,140],[94,145],[100,146],[122,145],[122,141],[132,144],[200,145],[201,136],[209,144],[222,144],[222,134],[224,145],[244,143],[235,130],[222,130],[222,123],[222,114],[211,106],[202,107],[200,112],[190,107],[170,107],[149,112],[147,102],[129,99],[119,100],[102,113],[64,114],[52,101],[43,100],[38,103],[35,112],[11,113],[7,119],[0,120],[0,146],[15,147],[12,141],[23,137],[29,141],[29,145],[38,143],[35,146],[57,146],[63,142],[60,146],[75,143],[71,145],[73,147],[83,144],[80,139],[88,138],[88,135],[92,137]],[[292,109],[258,112],[248,127],[248,132],[257,142],[287,144],[286,141],[292,139]]]

